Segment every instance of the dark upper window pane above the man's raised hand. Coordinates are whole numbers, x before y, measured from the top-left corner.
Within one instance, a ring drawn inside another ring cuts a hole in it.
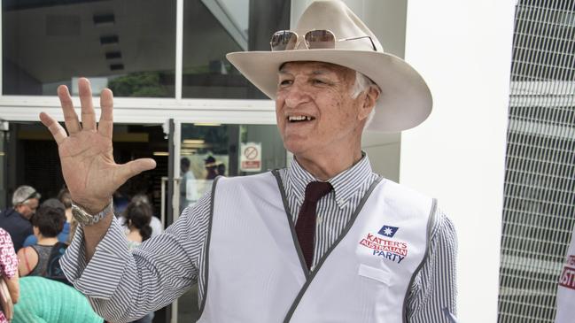
[[[175,96],[175,1],[4,0],[2,25],[4,95],[86,76],[95,93]]]

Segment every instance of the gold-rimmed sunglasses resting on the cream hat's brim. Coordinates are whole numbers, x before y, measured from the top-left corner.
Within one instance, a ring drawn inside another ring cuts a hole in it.
[[[330,30],[327,29],[317,29],[310,30],[304,35],[304,44],[307,50],[335,50],[336,42],[346,42],[354,41],[358,39],[368,38],[371,42],[371,47],[373,50],[377,51],[376,44],[371,40],[370,36],[358,36],[358,37],[348,37],[343,39],[337,39]],[[271,36],[272,51],[280,50],[295,50],[299,45],[299,35],[291,30],[279,30]]]

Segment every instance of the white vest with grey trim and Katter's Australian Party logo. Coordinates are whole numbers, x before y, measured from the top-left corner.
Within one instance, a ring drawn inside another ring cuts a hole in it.
[[[279,181],[263,173],[214,183],[198,322],[405,321],[434,201],[377,181],[308,273]]]

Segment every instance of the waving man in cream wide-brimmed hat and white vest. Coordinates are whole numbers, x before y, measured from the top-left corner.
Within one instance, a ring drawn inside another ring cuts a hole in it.
[[[67,277],[114,322],[169,304],[196,282],[199,322],[452,321],[451,222],[433,199],[372,173],[361,151],[370,118],[375,129],[398,131],[429,115],[425,82],[338,1],[311,4],[271,46],[228,58],[276,100],[291,167],[219,178],[132,253],[110,200],[154,162],[114,163],[109,89],[97,126],[89,82],[79,81],[81,126],[58,88],[69,135],[40,117],[82,223],[62,261]]]

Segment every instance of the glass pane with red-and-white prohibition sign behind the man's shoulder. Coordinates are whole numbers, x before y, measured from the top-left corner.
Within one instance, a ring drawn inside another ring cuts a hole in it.
[[[183,124],[180,157],[180,212],[211,189],[218,175],[264,173],[286,162],[273,125]]]

